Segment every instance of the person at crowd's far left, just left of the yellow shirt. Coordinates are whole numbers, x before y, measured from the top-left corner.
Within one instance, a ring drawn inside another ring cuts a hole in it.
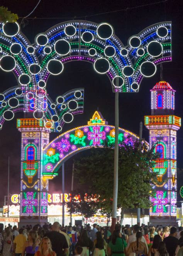
[[[5,229],[4,233],[4,239],[3,239],[3,256],[11,256],[11,249],[13,244],[13,235],[10,229],[10,226],[8,226]]]

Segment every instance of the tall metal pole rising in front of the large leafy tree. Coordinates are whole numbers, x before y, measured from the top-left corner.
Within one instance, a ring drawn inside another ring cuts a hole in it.
[[[117,81],[118,83],[119,81]],[[117,193],[118,193],[118,134],[119,134],[119,93],[115,92],[115,145],[114,145],[114,187],[112,201],[112,232],[117,220]]]

